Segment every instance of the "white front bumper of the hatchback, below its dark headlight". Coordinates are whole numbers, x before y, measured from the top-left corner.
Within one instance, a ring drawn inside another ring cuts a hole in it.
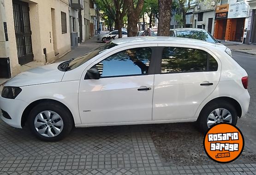
[[[6,113],[10,115],[12,119],[6,119],[2,113],[0,113],[0,118],[15,128],[22,128],[21,127],[21,117],[24,109],[29,104],[17,99],[7,99],[0,96],[0,109],[4,110]]]

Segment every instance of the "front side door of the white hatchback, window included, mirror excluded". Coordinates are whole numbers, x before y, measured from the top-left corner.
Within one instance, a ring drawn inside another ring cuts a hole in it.
[[[152,46],[122,48],[94,62],[88,69],[97,68],[100,79],[84,79],[84,71],[78,94],[82,124],[152,120]]]

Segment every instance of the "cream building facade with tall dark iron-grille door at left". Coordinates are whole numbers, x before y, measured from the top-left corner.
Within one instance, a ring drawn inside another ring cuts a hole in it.
[[[21,65],[52,62],[70,51],[68,0],[0,2],[0,78],[10,78],[6,66],[14,75]]]

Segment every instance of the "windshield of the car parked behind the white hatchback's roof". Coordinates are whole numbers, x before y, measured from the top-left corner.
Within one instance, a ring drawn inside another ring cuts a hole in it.
[[[195,31],[195,30],[188,30],[188,31],[177,31],[177,37],[182,38],[191,38],[196,40],[203,40],[209,43],[217,43],[214,37],[206,31]]]

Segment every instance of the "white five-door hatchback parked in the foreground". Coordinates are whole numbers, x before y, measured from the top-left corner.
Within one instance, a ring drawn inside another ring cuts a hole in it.
[[[248,76],[226,47],[174,37],[113,40],[10,79],[1,119],[57,141],[73,126],[195,122],[202,131],[247,113]]]

